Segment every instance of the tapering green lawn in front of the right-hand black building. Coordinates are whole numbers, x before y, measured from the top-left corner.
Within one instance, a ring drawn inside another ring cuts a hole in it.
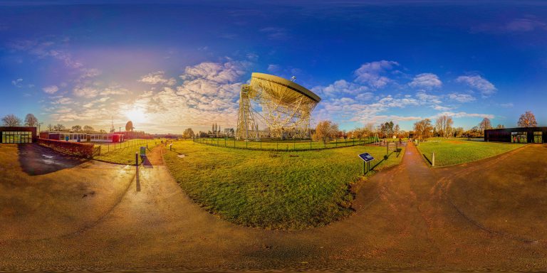
[[[467,141],[464,139],[439,139],[441,142],[422,142],[418,149],[422,156],[431,161],[435,153],[435,166],[443,167],[467,163],[490,156],[503,154],[522,147],[523,144]]]

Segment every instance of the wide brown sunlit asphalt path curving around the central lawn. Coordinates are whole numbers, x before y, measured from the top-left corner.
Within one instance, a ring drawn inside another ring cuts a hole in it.
[[[246,228],[207,213],[162,165],[162,149],[139,168],[63,157],[62,166],[32,174],[15,162],[12,178],[22,180],[0,178],[0,271],[547,269],[545,218],[536,228],[499,230],[451,191],[462,179],[518,173],[511,159],[544,158],[547,149],[538,146],[430,168],[409,144],[402,164],[358,183],[353,215],[309,230]],[[521,164],[537,163],[531,160]],[[81,191],[73,186],[85,177]],[[33,196],[42,196],[40,205],[28,205]]]

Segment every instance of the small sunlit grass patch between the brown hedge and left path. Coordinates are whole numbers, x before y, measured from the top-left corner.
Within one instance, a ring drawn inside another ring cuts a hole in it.
[[[123,147],[121,149],[120,144],[116,144],[115,150],[113,144],[110,144],[110,151],[108,151],[107,144],[100,144],[102,146],[101,154],[100,156],[93,156],[93,159],[110,163],[135,165],[135,153],[139,152],[140,146],[148,144],[148,149],[152,150],[156,146],[156,143],[160,143],[160,139],[132,139],[126,142],[121,144]],[[139,164],[141,163],[142,159],[139,156]]]

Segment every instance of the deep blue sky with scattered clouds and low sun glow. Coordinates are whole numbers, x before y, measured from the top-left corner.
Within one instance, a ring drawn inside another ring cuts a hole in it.
[[[235,128],[253,72],[345,130],[547,126],[547,1],[0,1],[0,116],[42,129]]]

